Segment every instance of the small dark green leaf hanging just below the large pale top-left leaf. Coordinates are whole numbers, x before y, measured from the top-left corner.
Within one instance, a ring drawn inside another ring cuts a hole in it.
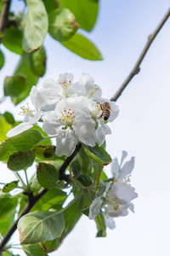
[[[43,47],[35,52],[27,53],[27,63],[31,71],[38,77],[42,77],[46,70],[46,52]]]

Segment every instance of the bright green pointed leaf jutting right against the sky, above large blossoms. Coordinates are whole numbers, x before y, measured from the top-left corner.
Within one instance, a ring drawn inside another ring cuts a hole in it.
[[[76,33],[69,41],[62,43],[67,49],[90,61],[103,60],[99,49],[81,34]]]

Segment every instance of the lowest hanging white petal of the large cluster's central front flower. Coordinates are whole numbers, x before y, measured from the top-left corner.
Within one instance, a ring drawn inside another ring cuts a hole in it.
[[[70,128],[59,130],[56,142],[55,154],[58,156],[70,156],[76,148],[77,136]]]

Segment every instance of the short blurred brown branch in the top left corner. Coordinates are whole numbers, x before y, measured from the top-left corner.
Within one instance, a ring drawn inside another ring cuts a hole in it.
[[[3,0],[3,7],[0,15],[0,32],[4,33],[8,26],[8,11],[10,8],[11,0]],[[0,43],[3,40],[3,36],[0,38]]]

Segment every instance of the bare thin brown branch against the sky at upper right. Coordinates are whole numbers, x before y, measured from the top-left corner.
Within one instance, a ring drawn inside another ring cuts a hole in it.
[[[139,55],[139,60],[136,62],[136,64],[133,67],[133,70],[131,71],[131,73],[127,76],[127,79],[124,81],[124,83],[122,84],[122,86],[119,88],[119,90],[116,91],[115,96],[113,96],[111,98],[111,102],[116,102],[116,100],[122,95],[122,91],[127,87],[127,84],[133,79],[133,77],[139,73],[140,71],[140,64],[141,62],[144,60],[144,56],[146,55],[148,49],[150,48],[150,44],[152,44],[152,42],[154,41],[154,39],[156,38],[156,35],[158,34],[158,32],[160,32],[161,27],[165,24],[165,22],[167,21],[167,19],[170,16],[170,9],[168,9],[167,14],[164,16],[164,18],[161,20],[161,23],[156,27],[155,32],[153,32],[152,34],[150,34],[150,36],[148,37],[148,42],[145,45],[141,55]]]

